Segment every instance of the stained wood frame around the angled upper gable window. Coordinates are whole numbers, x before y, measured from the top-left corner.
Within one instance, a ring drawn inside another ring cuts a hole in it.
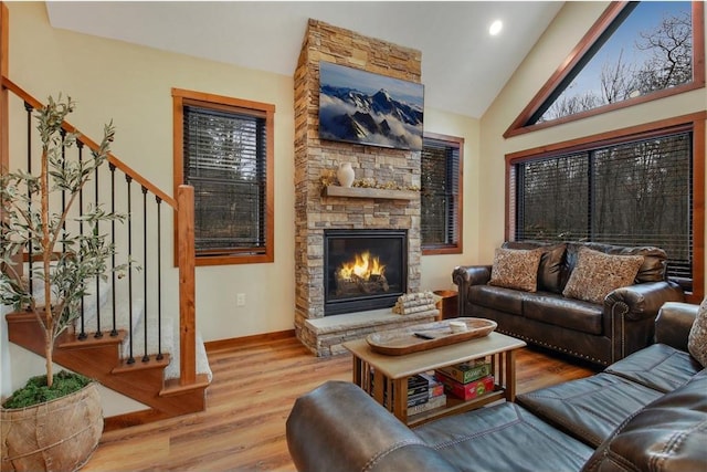
[[[594,42],[606,31],[611,23],[616,19],[621,11],[626,7],[629,2],[618,1],[612,2],[602,15],[592,25],[589,32],[580,40],[579,44],[570,52],[570,54],[562,61],[560,66],[555,71],[550,78],[542,85],[540,91],[532,97],[530,103],[520,112],[520,115],[510,124],[508,129],[504,133],[505,138],[523,135],[526,133],[535,132],[538,129],[545,129],[557,125],[562,125],[578,119],[583,119],[590,116],[600,115],[602,113],[612,112],[615,109],[625,108],[633,105],[639,105],[645,102],[652,102],[654,99],[665,98],[667,96],[677,95],[680,93],[694,91],[705,87],[705,6],[704,1],[692,2],[692,15],[693,15],[693,81],[678,85],[675,87],[664,88],[646,95],[627,98],[622,102],[616,102],[608,105],[602,105],[597,108],[588,109],[580,113],[574,113],[569,116],[552,119],[550,122],[538,123],[535,125],[526,125],[530,117],[542,106],[542,104],[550,97],[559,84],[567,77],[567,75],[577,66],[582,60],[584,54],[592,48]]]

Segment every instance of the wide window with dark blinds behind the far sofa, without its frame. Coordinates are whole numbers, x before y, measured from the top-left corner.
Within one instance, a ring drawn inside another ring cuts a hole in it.
[[[515,164],[515,239],[655,245],[690,287],[692,143],[680,130]]]

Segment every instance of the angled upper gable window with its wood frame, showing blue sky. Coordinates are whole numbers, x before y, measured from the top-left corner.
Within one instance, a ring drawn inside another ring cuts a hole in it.
[[[703,8],[612,3],[505,136],[704,86]]]

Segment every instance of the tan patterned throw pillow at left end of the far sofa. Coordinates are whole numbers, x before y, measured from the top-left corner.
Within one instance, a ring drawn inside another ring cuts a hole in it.
[[[537,249],[496,249],[488,284],[536,292],[538,290],[538,265],[541,256],[542,252]]]

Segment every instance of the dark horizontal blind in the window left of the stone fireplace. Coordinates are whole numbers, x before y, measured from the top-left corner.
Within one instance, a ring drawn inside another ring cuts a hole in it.
[[[265,248],[265,118],[183,108],[184,182],[194,187],[198,252]]]

